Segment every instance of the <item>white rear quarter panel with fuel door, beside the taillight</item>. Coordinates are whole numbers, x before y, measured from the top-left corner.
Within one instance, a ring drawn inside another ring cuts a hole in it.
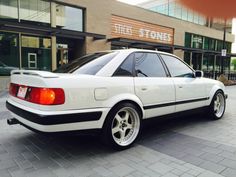
[[[132,77],[72,75],[50,79],[46,85],[63,88],[65,91],[65,104],[54,106],[55,111],[109,108],[124,97],[129,98],[128,95],[130,97],[134,95]],[[41,109],[52,110],[52,106],[41,106]]]

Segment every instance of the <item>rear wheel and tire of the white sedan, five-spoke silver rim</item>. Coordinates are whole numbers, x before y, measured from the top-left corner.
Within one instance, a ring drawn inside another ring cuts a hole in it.
[[[115,106],[104,123],[103,141],[116,150],[132,146],[140,133],[140,115],[140,111],[131,103],[120,103]]]

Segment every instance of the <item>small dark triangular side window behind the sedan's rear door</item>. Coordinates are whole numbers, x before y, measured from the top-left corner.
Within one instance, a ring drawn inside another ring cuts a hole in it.
[[[134,54],[130,54],[116,70],[113,76],[131,77],[133,76]]]

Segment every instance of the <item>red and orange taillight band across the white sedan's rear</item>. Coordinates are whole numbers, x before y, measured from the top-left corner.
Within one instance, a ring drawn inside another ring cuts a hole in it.
[[[22,87],[17,84],[10,84],[9,93],[12,96],[18,97],[25,101],[41,105],[60,105],[65,103],[65,93],[61,88],[41,88],[27,87],[27,92],[24,98],[18,96],[18,90]]]

